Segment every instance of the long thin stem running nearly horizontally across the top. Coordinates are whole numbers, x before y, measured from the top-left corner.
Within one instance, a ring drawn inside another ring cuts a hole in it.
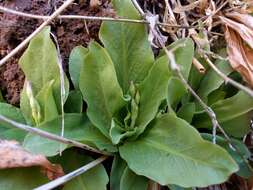
[[[32,18],[32,19],[39,19],[39,20],[46,20],[50,16],[44,15],[35,15],[24,13],[20,11],[16,11],[13,9],[9,9],[3,6],[0,6],[0,11],[5,13],[10,13],[22,17]],[[81,19],[81,20],[99,20],[99,21],[113,21],[113,22],[129,22],[129,23],[136,23],[136,24],[150,24],[146,20],[137,20],[137,19],[126,19],[126,18],[113,18],[113,17],[96,17],[96,16],[83,16],[83,15],[59,15],[55,17],[56,19]],[[166,23],[157,22],[157,25],[166,26],[166,27],[174,27],[174,28],[193,28],[191,26],[182,26],[182,25],[171,25]]]

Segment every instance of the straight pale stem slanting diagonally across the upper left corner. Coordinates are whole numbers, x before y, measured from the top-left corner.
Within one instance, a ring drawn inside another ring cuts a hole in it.
[[[47,26],[54,18],[56,18],[62,11],[64,11],[74,0],[66,0],[51,16],[47,18],[30,36],[28,36],[24,41],[22,41],[15,49],[13,49],[9,54],[7,54],[3,59],[0,60],[0,66],[2,66],[11,57],[16,55],[21,49],[23,49],[30,40],[35,37],[45,26]]]

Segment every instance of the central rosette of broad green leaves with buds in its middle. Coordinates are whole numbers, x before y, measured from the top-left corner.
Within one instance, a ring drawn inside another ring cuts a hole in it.
[[[129,1],[114,1],[114,6],[119,16],[140,18]],[[147,189],[148,179],[203,187],[221,183],[238,170],[224,149],[203,140],[172,109],[163,109],[164,100],[172,105],[177,92],[178,100],[187,92],[169,70],[167,57],[154,59],[143,25],[105,22],[100,39],[104,47],[91,42],[83,50],[78,88],[90,121],[117,149],[112,189]],[[194,45],[190,39],[173,45],[178,44],[177,62],[188,78]]]

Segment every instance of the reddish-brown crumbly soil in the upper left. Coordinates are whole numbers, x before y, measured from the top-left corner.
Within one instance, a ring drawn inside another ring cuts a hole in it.
[[[39,15],[50,15],[61,3],[61,0],[51,0],[51,4],[48,4],[48,0],[0,0],[2,6]],[[94,8],[90,7],[88,0],[80,1],[71,5],[63,14],[113,16],[111,4],[107,0],[101,3],[99,7]],[[42,20],[0,13],[0,58],[15,48],[41,23]],[[98,40],[100,24],[99,21],[83,20],[55,20],[51,24],[65,66],[71,49],[77,45],[87,46],[91,39]],[[20,56],[21,54],[17,55],[0,68],[0,90],[7,102],[14,105],[19,103],[19,94],[25,78],[17,65]]]

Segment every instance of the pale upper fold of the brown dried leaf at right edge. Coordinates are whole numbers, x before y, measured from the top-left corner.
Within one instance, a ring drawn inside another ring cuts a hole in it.
[[[253,30],[242,23],[220,16],[221,21],[229,28],[236,31],[241,38],[253,48]]]

